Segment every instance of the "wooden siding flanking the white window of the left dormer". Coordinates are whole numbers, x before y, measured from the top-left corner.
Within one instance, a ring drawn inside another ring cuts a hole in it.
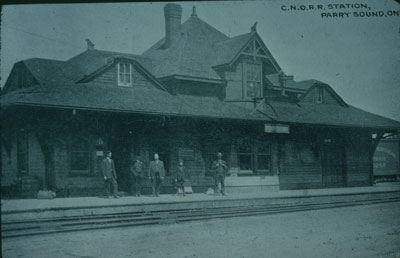
[[[92,82],[117,86],[117,65],[112,65],[106,69],[103,73],[95,77]],[[155,87],[155,85],[132,64],[132,87]]]

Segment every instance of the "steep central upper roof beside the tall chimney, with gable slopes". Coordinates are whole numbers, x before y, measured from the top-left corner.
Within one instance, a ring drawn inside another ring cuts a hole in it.
[[[163,48],[163,38],[142,54],[154,60],[157,78],[180,75],[221,79],[213,67],[230,64],[252,39],[260,42],[271,62],[279,68],[257,32],[229,38],[197,16],[184,22],[181,32],[179,40],[170,48]]]

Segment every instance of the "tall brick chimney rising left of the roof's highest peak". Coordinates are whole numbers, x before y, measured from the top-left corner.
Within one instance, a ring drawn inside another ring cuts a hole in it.
[[[181,36],[182,7],[179,4],[166,4],[164,6],[165,16],[165,44],[169,48],[179,40]]]

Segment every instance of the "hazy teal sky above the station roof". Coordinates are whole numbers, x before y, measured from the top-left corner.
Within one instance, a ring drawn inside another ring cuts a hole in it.
[[[296,81],[326,82],[348,104],[400,120],[400,5],[394,0],[343,6],[329,5],[332,2],[179,4],[182,22],[195,5],[200,19],[230,37],[248,33],[257,21],[264,43]],[[4,86],[15,62],[33,57],[67,60],[86,50],[86,38],[97,49],[141,54],[165,35],[165,4],[5,5],[0,85]],[[367,17],[374,14],[378,16]]]

